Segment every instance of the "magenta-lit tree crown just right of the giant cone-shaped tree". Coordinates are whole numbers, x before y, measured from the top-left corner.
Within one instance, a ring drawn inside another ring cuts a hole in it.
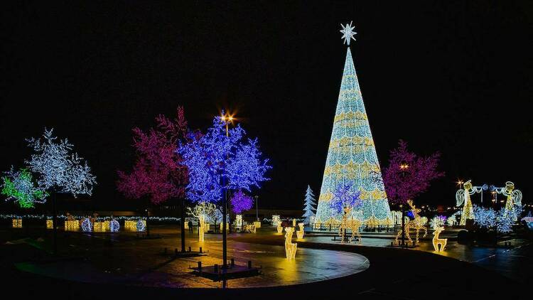
[[[418,156],[407,149],[407,142],[400,140],[398,148],[390,152],[389,166],[383,172],[385,191],[391,203],[407,203],[424,193],[430,181],[444,176],[444,172],[437,171],[440,156],[438,152]]]

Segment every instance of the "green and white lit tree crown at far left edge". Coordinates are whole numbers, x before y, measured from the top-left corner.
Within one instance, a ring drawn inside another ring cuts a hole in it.
[[[48,193],[33,183],[33,178],[27,168],[15,171],[11,166],[11,170],[6,172],[2,180],[4,182],[1,193],[7,196],[6,201],[13,199],[21,208],[34,208],[34,203],[46,202]]]

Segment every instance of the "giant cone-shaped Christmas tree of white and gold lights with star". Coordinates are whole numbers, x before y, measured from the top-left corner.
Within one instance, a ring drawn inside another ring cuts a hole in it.
[[[389,202],[349,48],[350,39],[355,41],[351,25],[346,24],[340,31],[348,44],[348,53],[318,198],[316,223],[340,222],[342,216],[330,208],[329,202],[339,183],[352,182],[361,192],[363,203],[359,209],[352,210],[352,218],[367,225],[389,224]]]

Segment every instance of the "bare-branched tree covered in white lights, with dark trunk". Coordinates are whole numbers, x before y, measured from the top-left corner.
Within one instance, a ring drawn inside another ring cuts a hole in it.
[[[28,146],[33,148],[31,159],[26,161],[28,168],[37,175],[37,183],[43,191],[53,195],[53,253],[57,253],[58,222],[56,194],[70,193],[92,194],[96,178],[92,175],[87,161],[72,151],[72,144],[67,139],[57,140],[53,129],[47,130],[42,139],[28,139]]]

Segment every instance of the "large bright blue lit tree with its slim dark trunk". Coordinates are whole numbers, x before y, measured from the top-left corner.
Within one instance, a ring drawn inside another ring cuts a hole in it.
[[[269,178],[268,159],[262,159],[257,139],[247,139],[244,129],[229,129],[229,117],[215,117],[206,134],[190,133],[189,142],[180,144],[178,153],[189,170],[187,197],[222,205],[222,248],[226,266],[227,191],[251,192]]]

